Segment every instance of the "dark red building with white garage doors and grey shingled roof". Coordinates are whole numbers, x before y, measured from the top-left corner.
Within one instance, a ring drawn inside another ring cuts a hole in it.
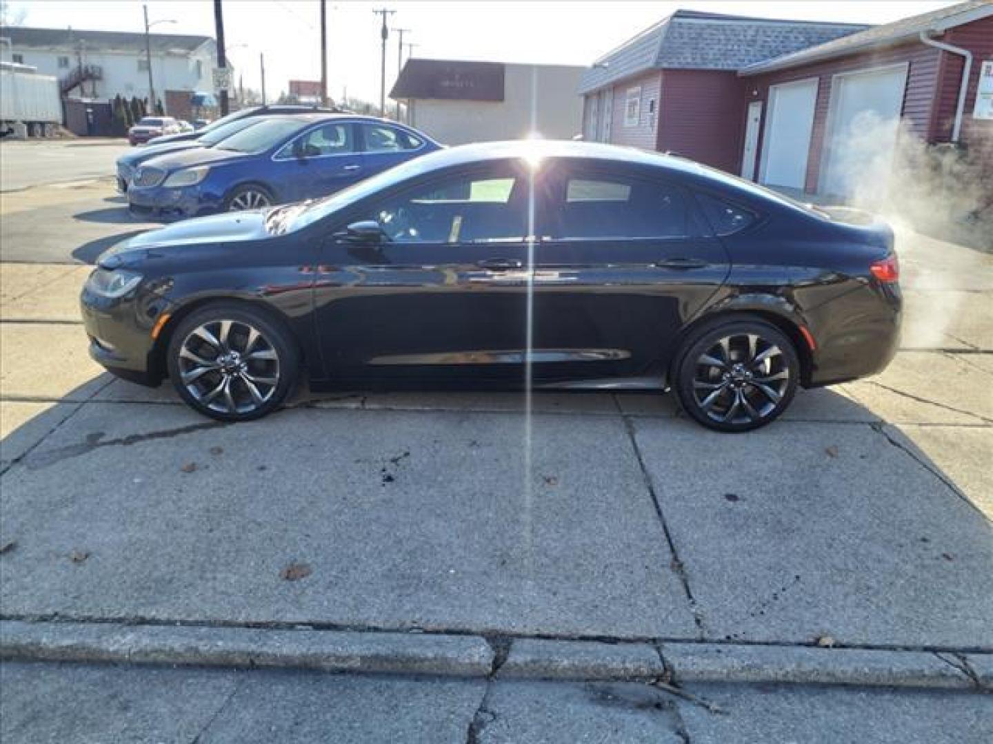
[[[866,147],[887,157],[901,123],[993,159],[984,70],[993,85],[989,0],[878,27],[677,11],[587,72],[583,131],[760,183],[845,193],[844,164]]]

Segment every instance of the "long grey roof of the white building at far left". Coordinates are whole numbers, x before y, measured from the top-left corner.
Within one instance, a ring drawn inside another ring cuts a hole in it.
[[[15,49],[46,49],[75,52],[84,49],[99,52],[144,52],[145,35],[123,31],[89,31],[86,29],[29,29],[10,26],[3,30]],[[149,34],[152,53],[189,54],[207,42],[209,36],[189,34]]]

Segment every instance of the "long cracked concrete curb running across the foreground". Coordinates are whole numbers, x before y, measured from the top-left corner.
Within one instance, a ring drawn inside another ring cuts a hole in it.
[[[563,681],[993,690],[993,654],[342,630],[0,622],[0,659]]]

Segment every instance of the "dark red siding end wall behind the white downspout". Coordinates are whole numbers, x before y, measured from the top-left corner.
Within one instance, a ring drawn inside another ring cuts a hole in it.
[[[949,31],[941,40],[954,47],[961,47],[972,53],[972,71],[969,74],[969,87],[965,98],[965,113],[962,117],[962,142],[973,146],[993,148],[993,121],[972,118],[972,107],[976,102],[979,86],[979,71],[983,60],[993,60],[993,18],[973,21]],[[932,142],[949,142],[958,105],[958,86],[962,79],[962,65],[959,55],[941,52],[940,91],[937,106],[931,121]]]

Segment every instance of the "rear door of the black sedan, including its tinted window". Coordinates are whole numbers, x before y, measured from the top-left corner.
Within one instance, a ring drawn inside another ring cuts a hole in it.
[[[552,166],[535,252],[540,381],[638,377],[721,286],[729,261],[689,191],[623,166]]]

